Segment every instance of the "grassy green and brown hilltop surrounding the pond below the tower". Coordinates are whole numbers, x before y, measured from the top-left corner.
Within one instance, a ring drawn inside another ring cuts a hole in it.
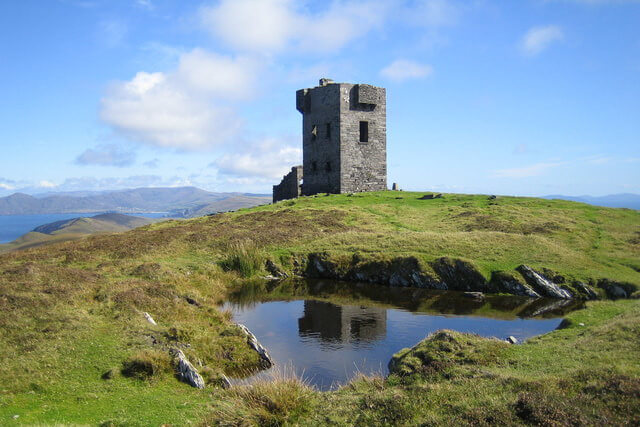
[[[637,300],[590,302],[521,346],[435,336],[398,355],[388,379],[332,393],[294,380],[196,390],[173,377],[176,345],[212,384],[258,363],[216,304],[267,274],[267,259],[290,271],[314,252],[412,256],[428,269],[446,256],[487,279],[527,264],[640,286],[638,211],[423,194],[305,197],[0,255],[0,424],[639,422]]]

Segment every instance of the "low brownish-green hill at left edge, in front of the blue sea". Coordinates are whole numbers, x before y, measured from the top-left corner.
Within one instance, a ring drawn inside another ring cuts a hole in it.
[[[127,231],[157,221],[118,213],[56,221],[36,227],[13,242],[0,245],[0,253],[77,240],[91,234]]]

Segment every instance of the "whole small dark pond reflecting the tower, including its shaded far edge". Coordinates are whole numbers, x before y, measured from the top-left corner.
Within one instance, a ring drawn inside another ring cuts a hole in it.
[[[391,356],[439,329],[518,341],[558,327],[568,300],[388,288],[327,280],[253,283],[224,308],[267,348],[275,366],[235,383],[295,375],[331,390],[358,373],[386,375]]]

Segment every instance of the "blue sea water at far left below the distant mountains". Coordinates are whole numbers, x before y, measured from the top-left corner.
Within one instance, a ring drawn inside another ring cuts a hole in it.
[[[40,215],[0,215],[0,244],[12,242],[18,237],[32,231],[34,228],[51,222],[78,217],[92,217],[106,212],[40,214]],[[144,218],[164,218],[167,212],[150,212],[127,214]]]

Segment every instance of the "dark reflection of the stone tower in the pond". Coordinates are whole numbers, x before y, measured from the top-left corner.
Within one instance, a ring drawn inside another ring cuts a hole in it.
[[[298,319],[298,333],[302,338],[317,339],[330,347],[368,344],[385,338],[387,310],[305,300],[304,314]]]

